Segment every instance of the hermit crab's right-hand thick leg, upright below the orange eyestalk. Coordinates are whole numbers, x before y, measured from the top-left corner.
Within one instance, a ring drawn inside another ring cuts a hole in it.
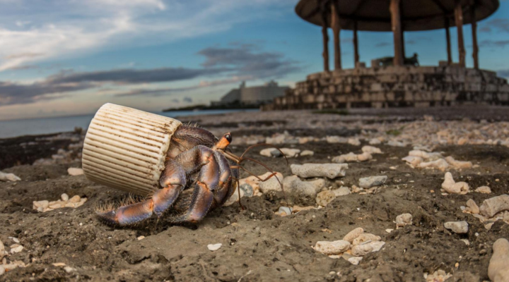
[[[201,166],[197,181],[194,183],[194,191],[189,208],[183,214],[170,219],[172,223],[197,223],[201,221],[213,204],[219,204],[216,201],[222,200],[219,197],[216,198],[216,195],[223,193],[222,191],[217,191],[218,188],[221,190],[219,185],[227,185],[228,183],[226,182],[231,180],[229,165],[223,164],[223,161],[220,161],[221,164],[219,164],[215,152],[211,149],[204,146],[199,147],[201,147],[202,154],[210,156],[209,161],[204,166]]]

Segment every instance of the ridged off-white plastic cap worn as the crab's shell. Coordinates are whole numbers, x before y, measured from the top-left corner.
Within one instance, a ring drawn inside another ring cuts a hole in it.
[[[115,104],[104,104],[88,126],[83,171],[96,183],[149,195],[159,177],[175,130],[174,118]]]

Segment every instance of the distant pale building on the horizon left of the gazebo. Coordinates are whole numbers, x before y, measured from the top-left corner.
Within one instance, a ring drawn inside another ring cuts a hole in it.
[[[240,83],[239,88],[232,89],[226,93],[220,101],[211,102],[212,106],[227,104],[264,104],[272,102],[276,97],[283,97],[288,86],[279,86],[271,80],[262,86],[246,87],[245,81]]]

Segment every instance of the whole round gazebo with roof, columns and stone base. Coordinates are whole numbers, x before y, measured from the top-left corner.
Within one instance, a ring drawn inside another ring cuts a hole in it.
[[[507,80],[479,68],[476,23],[498,6],[498,0],[300,0],[298,16],[322,27],[324,71],[308,75],[262,110],[509,105]],[[472,25],[473,68],[465,64],[466,24]],[[334,70],[329,68],[329,27],[334,34]],[[452,61],[450,27],[457,28],[457,63]],[[409,64],[416,59],[406,59],[404,32],[438,29],[445,30],[447,61],[437,66]],[[341,68],[341,30],[353,30],[354,68]],[[358,31],[392,32],[394,57],[373,60],[366,68],[359,61]]]

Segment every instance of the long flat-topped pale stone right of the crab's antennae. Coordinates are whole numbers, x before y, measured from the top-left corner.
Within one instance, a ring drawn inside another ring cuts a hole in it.
[[[330,179],[345,176],[348,164],[291,164],[293,174],[302,178],[327,177]]]

